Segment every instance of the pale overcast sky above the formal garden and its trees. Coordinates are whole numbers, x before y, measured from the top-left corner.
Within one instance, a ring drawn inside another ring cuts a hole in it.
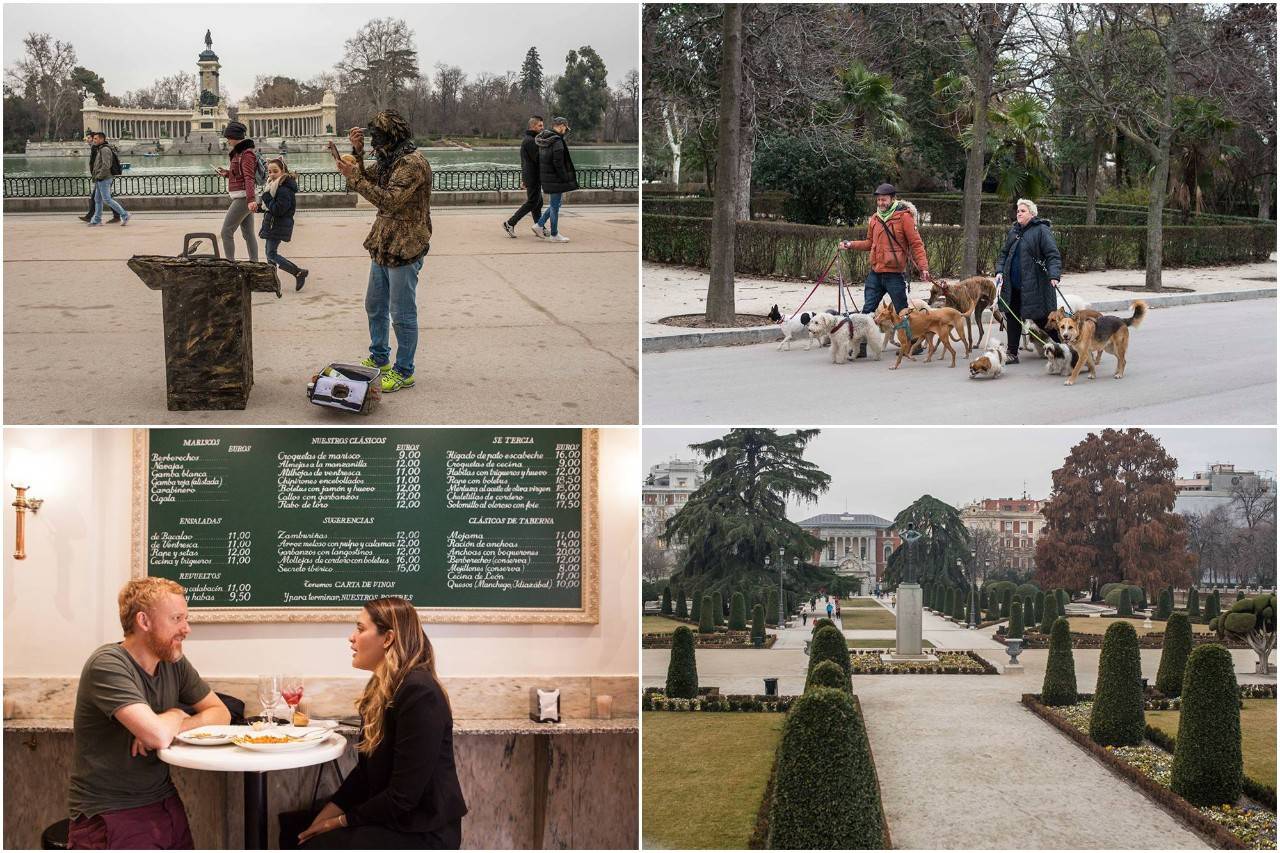
[[[646,426],[645,471],[672,456],[694,459],[689,444],[724,432]],[[925,493],[959,507],[978,498],[1019,497],[1024,482],[1033,498],[1044,498],[1053,469],[1089,432],[1070,426],[823,429],[809,443],[805,459],[831,475],[831,489],[817,503],[794,503],[787,515],[799,521],[847,508],[892,519]],[[1189,476],[1210,462],[1234,462],[1247,470],[1276,467],[1276,434],[1271,429],[1148,432],[1178,460],[1179,475]]]

